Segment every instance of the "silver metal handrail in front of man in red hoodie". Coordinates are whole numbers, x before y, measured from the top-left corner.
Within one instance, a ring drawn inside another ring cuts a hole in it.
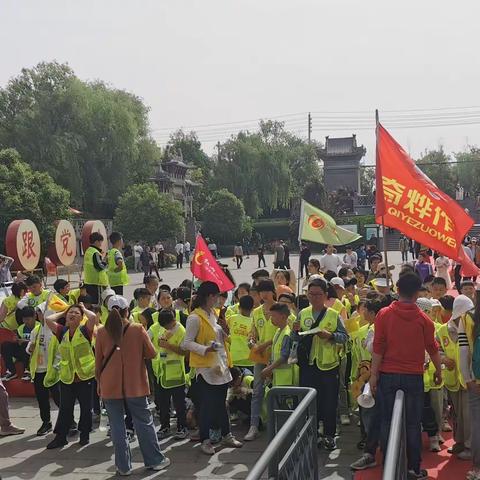
[[[387,454],[383,466],[383,480],[405,480],[407,474],[405,394],[402,390],[397,390],[390,423]]]

